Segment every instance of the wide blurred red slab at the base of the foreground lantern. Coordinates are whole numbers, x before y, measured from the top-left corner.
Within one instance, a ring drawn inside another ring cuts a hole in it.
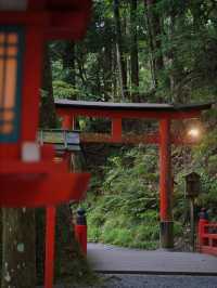
[[[0,174],[0,207],[53,206],[85,198],[89,173]]]

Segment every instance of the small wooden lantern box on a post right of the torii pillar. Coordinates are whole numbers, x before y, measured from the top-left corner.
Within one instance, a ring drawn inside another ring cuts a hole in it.
[[[186,179],[186,195],[190,199],[190,225],[191,225],[191,247],[192,251],[195,250],[194,233],[195,233],[195,219],[194,219],[194,200],[201,192],[201,176],[196,172],[191,172],[184,176]]]

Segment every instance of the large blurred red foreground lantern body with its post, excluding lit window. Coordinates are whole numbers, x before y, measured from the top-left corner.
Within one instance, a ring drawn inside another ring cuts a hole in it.
[[[23,2],[22,5],[21,2]],[[16,10],[17,6],[20,6],[18,10]],[[2,48],[8,49],[8,43],[2,44],[2,41],[8,39],[9,29],[14,29],[12,37],[16,29],[22,29],[24,36],[22,70],[17,68],[15,75],[21,76],[18,83],[21,105],[20,107],[17,104],[17,107],[15,106],[21,125],[16,141],[1,141],[0,143],[0,206],[48,207],[46,288],[51,288],[53,283],[54,205],[72,199],[81,199],[85,196],[90,175],[88,173],[68,173],[66,163],[54,163],[53,147],[46,145],[39,147],[37,144],[43,48],[47,40],[72,39],[75,41],[82,38],[87,30],[90,10],[91,0],[28,0],[27,5],[22,0],[0,3],[0,44]],[[15,35],[15,37],[17,36]],[[20,49],[20,47],[17,48]],[[1,53],[0,64],[5,66],[7,52],[3,56]],[[3,71],[0,69],[0,96],[7,100],[9,99],[8,94],[1,94],[3,93],[1,84],[4,80],[2,76],[4,71],[5,68]],[[18,81],[11,80],[12,82]],[[4,87],[5,83],[2,86]],[[1,105],[0,108],[3,109]],[[0,140],[3,138],[3,130],[1,130]],[[27,148],[33,147],[36,153],[35,159],[31,159],[31,156],[26,159],[24,154],[27,153]]]

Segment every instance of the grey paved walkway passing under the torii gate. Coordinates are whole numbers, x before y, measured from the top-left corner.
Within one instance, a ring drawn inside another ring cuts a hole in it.
[[[217,276],[217,257],[118,248],[88,244],[88,261],[97,272],[112,274],[178,274]]]

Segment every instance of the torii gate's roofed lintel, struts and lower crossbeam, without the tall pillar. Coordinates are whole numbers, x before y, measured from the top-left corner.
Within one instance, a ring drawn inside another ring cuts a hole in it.
[[[124,135],[122,120],[125,118],[155,119],[170,121],[173,119],[199,118],[202,110],[209,109],[212,104],[153,104],[153,103],[108,103],[108,102],[86,102],[71,100],[55,100],[56,113],[63,117],[62,128],[75,128],[75,119],[78,116],[110,118],[112,121],[112,134],[106,133],[81,133],[81,142],[104,142],[104,143],[150,143],[158,144],[161,133],[145,135]],[[163,131],[163,130],[162,130]],[[163,132],[162,132],[163,133]],[[191,140],[178,140],[171,136],[176,144],[193,144]]]

